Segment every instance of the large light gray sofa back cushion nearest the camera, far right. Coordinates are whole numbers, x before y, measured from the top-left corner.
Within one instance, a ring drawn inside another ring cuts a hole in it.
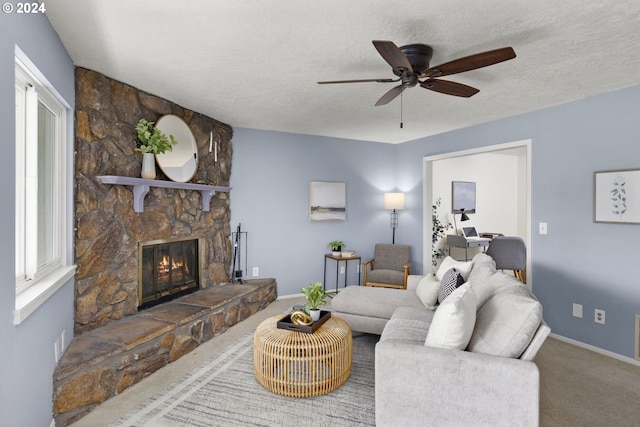
[[[504,287],[478,311],[467,350],[520,357],[541,322],[542,305],[525,286]]]

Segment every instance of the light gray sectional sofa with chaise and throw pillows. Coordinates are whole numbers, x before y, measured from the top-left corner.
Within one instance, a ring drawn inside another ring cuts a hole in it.
[[[465,283],[438,304],[452,268]],[[380,335],[378,426],[538,425],[533,359],[550,328],[526,285],[486,254],[448,258],[436,275],[410,276],[406,290],[349,286],[331,310],[352,330]]]

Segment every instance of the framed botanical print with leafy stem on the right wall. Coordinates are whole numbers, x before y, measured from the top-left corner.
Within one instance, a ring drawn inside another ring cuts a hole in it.
[[[640,169],[593,173],[593,220],[640,224]]]

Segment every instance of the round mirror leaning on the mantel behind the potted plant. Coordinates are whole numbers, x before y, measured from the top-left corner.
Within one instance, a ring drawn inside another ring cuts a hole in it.
[[[155,126],[178,141],[172,151],[156,154],[158,166],[172,181],[191,180],[198,169],[198,147],[191,129],[184,120],[172,114],[160,117]]]

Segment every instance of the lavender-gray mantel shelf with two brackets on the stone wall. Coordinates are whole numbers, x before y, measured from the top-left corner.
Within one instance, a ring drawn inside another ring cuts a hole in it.
[[[151,187],[176,188],[179,190],[199,191],[202,196],[202,210],[209,212],[211,198],[216,192],[229,192],[231,187],[218,185],[193,184],[190,182],[163,181],[158,179],[132,178],[128,176],[102,175],[97,176],[103,184],[132,185],[133,186],[133,210],[144,212],[144,198]]]

